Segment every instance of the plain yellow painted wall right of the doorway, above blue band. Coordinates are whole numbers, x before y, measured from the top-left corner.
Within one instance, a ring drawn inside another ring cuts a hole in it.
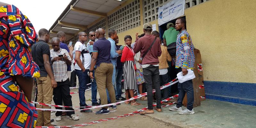
[[[204,80],[256,83],[255,0],[209,0],[185,15]]]

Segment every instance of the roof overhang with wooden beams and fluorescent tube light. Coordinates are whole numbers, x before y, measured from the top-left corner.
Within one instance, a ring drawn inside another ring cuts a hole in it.
[[[63,31],[67,39],[72,38],[78,32],[84,31],[95,20],[107,17],[107,12],[125,2],[116,0],[71,0],[66,9],[50,28],[51,38],[56,37],[57,32]]]

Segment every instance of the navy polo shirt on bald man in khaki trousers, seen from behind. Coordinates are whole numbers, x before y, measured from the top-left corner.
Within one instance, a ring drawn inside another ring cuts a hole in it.
[[[111,63],[110,59],[111,44],[106,38],[99,38],[93,43],[93,52],[98,52],[98,59],[96,61],[96,68],[101,63]]]

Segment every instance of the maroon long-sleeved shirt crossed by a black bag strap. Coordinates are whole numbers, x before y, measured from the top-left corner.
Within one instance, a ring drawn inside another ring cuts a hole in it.
[[[142,57],[144,53],[148,50],[152,42],[155,40],[154,35],[145,35],[141,37],[138,41],[135,41],[134,44],[134,52],[140,52],[140,56]],[[156,38],[156,42],[150,48],[144,59],[142,60],[142,64],[151,64],[156,65],[159,63],[158,56],[161,56],[161,42],[159,38]]]

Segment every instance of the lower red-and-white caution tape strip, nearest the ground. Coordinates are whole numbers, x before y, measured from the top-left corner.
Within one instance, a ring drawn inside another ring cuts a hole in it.
[[[169,98],[167,98],[167,99],[165,99],[165,100],[162,100],[161,103],[167,102],[169,99],[171,100],[171,99],[174,99],[174,98],[176,98],[176,97],[178,97],[178,96],[179,96],[179,94],[174,95],[174,96],[172,96],[172,97],[169,97]],[[172,104],[174,104],[174,103],[176,103],[176,102],[172,102],[172,103],[170,103],[170,104],[163,105],[163,106],[161,106],[161,107],[167,107],[167,106],[170,106],[170,105],[172,105]],[[155,106],[156,106],[156,103],[153,104],[153,106],[155,107]],[[106,119],[95,120],[95,121],[91,121],[91,122],[84,123],[84,124],[76,124],[76,125],[71,125],[71,126],[48,126],[48,127],[47,127],[47,126],[36,126],[36,128],[71,128],[71,127],[80,127],[80,126],[82,127],[82,126],[97,124],[97,123],[100,123],[100,122],[103,122],[103,121],[115,120],[115,119],[119,119],[119,118],[126,117],[126,116],[133,116],[133,115],[138,114],[138,113],[140,113],[141,111],[144,111],[144,110],[147,110],[147,109],[148,109],[148,107],[146,107],[146,108],[141,108],[140,110],[134,111],[134,112],[132,112],[132,113],[124,114],[124,115],[121,115],[121,116],[115,116],[115,117],[111,117],[111,118],[106,118]]]

